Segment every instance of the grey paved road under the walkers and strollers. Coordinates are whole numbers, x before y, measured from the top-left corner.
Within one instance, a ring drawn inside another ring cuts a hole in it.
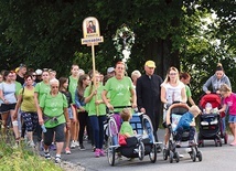
[[[159,137],[163,137],[163,130],[159,131]],[[232,136],[229,136],[229,142],[232,141]],[[223,147],[215,147],[214,141],[205,141],[205,147],[200,148],[203,153],[202,162],[193,162],[186,151],[186,148],[178,149],[180,153],[184,154],[179,163],[170,163],[169,160],[165,161],[162,158],[162,153],[158,153],[158,159],[155,163],[151,163],[149,157],[146,156],[143,161],[135,159],[135,161],[128,161],[127,158],[122,158],[119,162],[116,162],[115,167],[110,167],[107,157],[95,158],[94,152],[92,152],[92,147],[89,143],[85,142],[86,150],[81,151],[78,148],[72,150],[72,154],[63,154],[62,159],[64,161],[69,161],[72,163],[79,163],[82,167],[86,168],[86,171],[225,171],[225,170],[236,170],[236,147],[230,147],[229,145],[223,145]]]

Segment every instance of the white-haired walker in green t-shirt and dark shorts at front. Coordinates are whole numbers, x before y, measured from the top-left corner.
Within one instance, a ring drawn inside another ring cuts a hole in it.
[[[64,94],[58,92],[58,81],[50,81],[51,90],[44,94],[40,99],[39,122],[45,125],[46,131],[44,132],[44,156],[51,159],[49,147],[53,142],[55,133],[56,141],[56,157],[55,162],[61,162],[61,153],[65,141],[65,122],[69,129],[71,120],[68,118],[68,104]]]

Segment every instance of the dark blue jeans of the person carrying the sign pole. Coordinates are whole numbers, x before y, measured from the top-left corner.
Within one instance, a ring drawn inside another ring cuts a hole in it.
[[[106,116],[89,116],[96,149],[103,149]]]

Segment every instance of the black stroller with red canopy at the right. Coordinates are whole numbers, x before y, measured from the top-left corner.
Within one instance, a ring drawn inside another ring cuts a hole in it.
[[[212,108],[210,111],[207,111],[207,105]],[[214,140],[215,147],[222,147],[222,138],[227,143],[228,135],[225,128],[223,128],[222,119],[225,117],[225,113],[217,114],[217,109],[222,108],[221,97],[216,94],[204,95],[201,98],[200,107],[203,110],[203,115],[200,116],[199,146],[204,147],[204,140]]]

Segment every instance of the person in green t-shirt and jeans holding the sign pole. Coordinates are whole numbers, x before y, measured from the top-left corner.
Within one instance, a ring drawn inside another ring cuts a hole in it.
[[[101,92],[104,86],[100,83],[100,74],[95,72],[92,84],[85,89],[84,97],[88,118],[93,129],[95,141],[95,157],[104,157],[104,121],[106,120],[106,106],[101,99]]]

